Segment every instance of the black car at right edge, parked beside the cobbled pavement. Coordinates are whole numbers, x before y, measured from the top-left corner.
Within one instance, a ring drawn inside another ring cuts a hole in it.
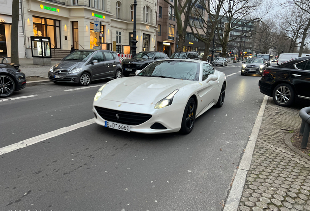
[[[310,56],[267,67],[259,80],[259,88],[280,106],[288,107],[295,99],[310,102]]]

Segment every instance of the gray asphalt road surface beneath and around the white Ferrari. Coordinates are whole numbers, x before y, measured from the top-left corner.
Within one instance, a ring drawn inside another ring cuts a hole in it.
[[[220,211],[264,95],[260,76],[241,76],[241,63],[216,69],[227,76],[224,105],[189,135],[91,124],[1,155],[0,211]],[[0,148],[92,119],[107,81],[28,84],[10,98],[37,96],[0,101]]]

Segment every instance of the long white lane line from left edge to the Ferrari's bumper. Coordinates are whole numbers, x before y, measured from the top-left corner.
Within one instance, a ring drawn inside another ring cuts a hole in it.
[[[71,125],[68,127],[63,127],[63,128],[54,130],[52,132],[48,132],[48,133],[45,133],[42,135],[38,135],[38,136],[35,136],[32,138],[20,141],[20,142],[15,143],[15,144],[8,145],[6,147],[2,147],[2,148],[0,148],[0,155],[9,153],[11,151],[15,151],[15,150],[20,149],[20,148],[28,147],[29,145],[36,144],[38,142],[44,141],[44,140],[49,139],[49,138],[53,138],[55,136],[70,132],[72,130],[76,130],[76,129],[81,128],[81,127],[91,125],[94,122],[95,122],[94,119],[89,119],[89,120],[86,120],[86,121],[83,121],[83,122],[80,122],[80,123],[77,123],[77,124],[74,124],[74,125]]]

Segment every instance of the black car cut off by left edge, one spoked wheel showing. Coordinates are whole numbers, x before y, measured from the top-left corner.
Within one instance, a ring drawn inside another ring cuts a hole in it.
[[[19,64],[0,63],[0,97],[8,97],[14,91],[26,87],[26,76]]]

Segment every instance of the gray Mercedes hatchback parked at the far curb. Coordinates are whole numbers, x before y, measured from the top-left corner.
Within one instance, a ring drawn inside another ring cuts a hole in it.
[[[52,66],[48,72],[54,83],[78,83],[87,86],[91,81],[121,78],[122,65],[116,52],[109,50],[76,50]]]

